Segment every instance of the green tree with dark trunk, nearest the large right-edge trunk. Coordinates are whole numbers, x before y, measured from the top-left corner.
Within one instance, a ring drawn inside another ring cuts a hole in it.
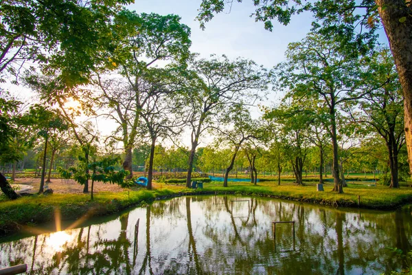
[[[399,188],[398,154],[405,142],[403,96],[388,50],[377,52],[370,58],[367,72],[370,73],[366,78],[369,85],[379,88],[365,95],[359,103],[362,112],[352,112],[352,118],[366,125],[366,131],[374,131],[385,140],[391,170],[390,187]]]

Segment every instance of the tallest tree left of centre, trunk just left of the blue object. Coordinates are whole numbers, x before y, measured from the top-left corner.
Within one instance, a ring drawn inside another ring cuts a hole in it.
[[[101,107],[108,109],[107,118],[119,126],[112,138],[123,142],[123,167],[133,176],[132,151],[139,135],[141,109],[148,104],[150,94],[141,90],[150,69],[163,62],[182,64],[189,56],[190,29],[173,14],[137,14],[122,10],[115,17],[113,52],[108,52],[112,69],[122,75],[120,79],[103,79],[100,74],[95,84],[100,87],[96,96]],[[120,89],[119,89],[120,88]]]

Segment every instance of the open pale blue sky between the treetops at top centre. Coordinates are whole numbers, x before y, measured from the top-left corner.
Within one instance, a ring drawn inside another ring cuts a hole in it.
[[[274,22],[273,32],[268,32],[262,22],[249,17],[255,10],[252,0],[234,2],[230,12],[217,14],[206,23],[204,31],[196,21],[201,0],[135,0],[128,8],[138,13],[178,14],[181,22],[192,30],[192,52],[202,57],[210,54],[226,54],[229,58],[240,56],[267,68],[285,61],[288,43],[303,39],[313,20],[312,14],[306,12],[293,17],[287,26]],[[380,33],[383,34],[380,41],[387,43],[385,34]]]

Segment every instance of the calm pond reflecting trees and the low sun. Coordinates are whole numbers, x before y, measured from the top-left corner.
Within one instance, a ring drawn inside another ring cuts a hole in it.
[[[411,211],[177,197],[82,228],[0,239],[0,267],[27,263],[27,274],[382,274],[406,267],[389,248],[411,250]],[[273,221],[295,221],[295,232],[293,223],[274,232]]]

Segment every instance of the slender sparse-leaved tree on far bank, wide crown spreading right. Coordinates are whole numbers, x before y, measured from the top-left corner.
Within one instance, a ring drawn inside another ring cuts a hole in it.
[[[229,61],[226,56],[211,56],[210,60],[192,61],[194,74],[187,93],[191,148],[187,164],[186,187],[190,188],[194,156],[200,138],[208,129],[218,124],[218,116],[232,104],[255,102],[259,91],[266,88],[267,74],[253,61],[237,58]],[[253,103],[252,103],[253,104]]]

